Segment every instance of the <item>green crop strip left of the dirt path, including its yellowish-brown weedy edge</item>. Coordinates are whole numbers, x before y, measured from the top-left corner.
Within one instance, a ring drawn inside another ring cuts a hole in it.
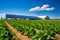
[[[7,27],[3,20],[0,20],[0,40],[17,40],[14,33]]]

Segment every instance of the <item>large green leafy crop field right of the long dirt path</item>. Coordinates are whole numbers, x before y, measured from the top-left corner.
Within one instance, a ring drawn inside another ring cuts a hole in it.
[[[6,20],[32,40],[54,40],[60,34],[60,20]]]

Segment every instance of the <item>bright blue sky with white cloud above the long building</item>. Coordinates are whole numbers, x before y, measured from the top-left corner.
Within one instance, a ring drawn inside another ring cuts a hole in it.
[[[60,0],[0,0],[0,14],[60,18]]]

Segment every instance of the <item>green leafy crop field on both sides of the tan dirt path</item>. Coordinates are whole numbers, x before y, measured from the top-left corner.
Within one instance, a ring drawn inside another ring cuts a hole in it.
[[[60,34],[60,20],[5,20],[22,35],[32,40],[55,40]],[[0,20],[0,40],[17,40],[10,28]]]

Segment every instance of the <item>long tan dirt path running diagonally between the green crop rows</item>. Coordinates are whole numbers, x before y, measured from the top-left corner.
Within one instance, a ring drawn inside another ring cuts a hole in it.
[[[17,31],[13,26],[11,26],[7,21],[4,21],[7,27],[19,38],[19,40],[31,40],[25,35],[22,35],[21,32]]]

